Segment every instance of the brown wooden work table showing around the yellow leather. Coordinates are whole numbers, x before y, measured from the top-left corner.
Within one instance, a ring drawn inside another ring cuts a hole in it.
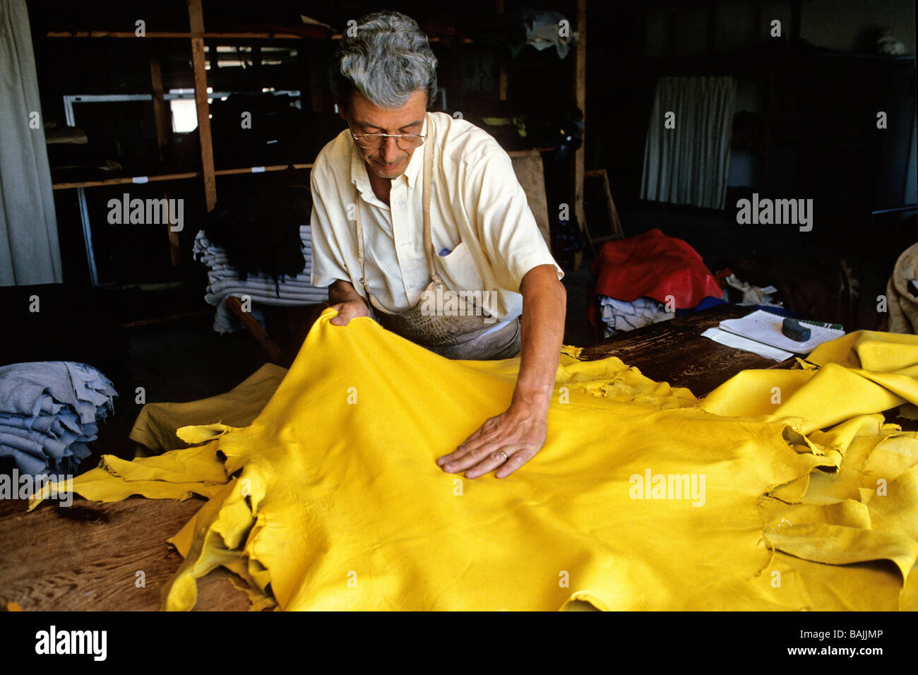
[[[646,326],[584,350],[595,360],[618,356],[647,377],[703,396],[746,368],[789,367],[714,343],[700,333],[748,310],[722,306]],[[131,497],[115,503],[74,498],[62,508],[45,502],[0,501],[0,608],[34,610],[158,610],[163,584],[182,558],[165,541],[205,503]],[[145,586],[138,586],[138,572]],[[233,575],[217,569],[198,580],[196,610],[246,610]]]

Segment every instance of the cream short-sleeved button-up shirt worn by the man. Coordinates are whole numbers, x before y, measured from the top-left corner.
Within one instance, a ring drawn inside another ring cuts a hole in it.
[[[522,277],[540,264],[554,265],[559,279],[564,272],[545,245],[509,155],[484,129],[442,112],[427,113],[421,133],[427,140],[412,152],[405,173],[392,179],[391,206],[375,196],[350,129],[319,152],[310,176],[311,283],[327,287],[342,279],[364,296],[353,220],[359,192],[370,292],[393,312],[420,302],[431,281],[421,184],[424,146],[432,143],[431,239],[438,253],[449,252],[434,255],[434,268],[455,292],[495,291],[490,309],[498,321],[520,316]]]

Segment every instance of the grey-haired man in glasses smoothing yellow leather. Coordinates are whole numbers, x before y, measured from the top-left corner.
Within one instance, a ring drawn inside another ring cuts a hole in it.
[[[375,310],[389,330],[449,358],[520,355],[507,411],[437,459],[466,478],[495,469],[505,478],[545,443],[564,273],[497,141],[427,112],[436,65],[417,23],[397,12],[367,15],[341,40],[331,87],[348,129],[312,169],[312,284],[330,286],[332,324]],[[483,300],[431,312],[442,291]]]

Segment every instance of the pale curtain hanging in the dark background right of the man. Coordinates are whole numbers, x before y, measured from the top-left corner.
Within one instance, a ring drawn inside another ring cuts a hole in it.
[[[732,77],[661,77],[644,146],[641,198],[723,208],[736,105]],[[666,128],[666,113],[674,129]]]

